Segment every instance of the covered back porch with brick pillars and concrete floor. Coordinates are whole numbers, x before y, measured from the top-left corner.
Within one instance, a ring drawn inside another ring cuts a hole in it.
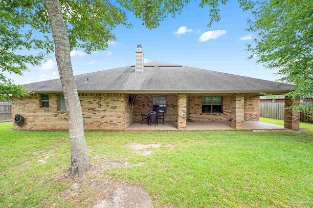
[[[126,130],[251,130],[298,129],[299,113],[285,109],[285,126],[259,121],[259,94],[138,94],[127,110]],[[299,99],[286,99],[285,106]],[[159,110],[159,111],[157,111]],[[141,125],[142,115],[163,114],[165,125]]]

